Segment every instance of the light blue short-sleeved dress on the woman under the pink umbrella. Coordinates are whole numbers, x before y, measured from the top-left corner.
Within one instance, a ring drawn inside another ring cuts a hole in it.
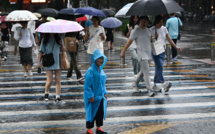
[[[44,67],[44,70],[59,70],[60,67],[60,47],[61,45],[57,44],[54,37],[50,37],[48,43],[45,45],[42,40],[40,46],[40,52],[42,53],[53,53],[55,63],[50,67]],[[53,46],[54,45],[54,46]],[[52,50],[53,49],[53,50]]]

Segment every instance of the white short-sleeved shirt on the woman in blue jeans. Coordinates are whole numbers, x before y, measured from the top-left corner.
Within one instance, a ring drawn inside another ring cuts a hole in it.
[[[150,28],[152,36],[155,37],[155,26]],[[156,28],[156,32],[158,33],[158,40],[161,40],[164,47],[166,47],[166,35],[168,34],[168,30],[166,27],[162,26],[161,28]]]

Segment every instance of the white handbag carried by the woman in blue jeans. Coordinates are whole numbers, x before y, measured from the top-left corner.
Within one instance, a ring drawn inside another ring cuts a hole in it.
[[[165,52],[163,42],[161,40],[156,40],[151,43],[152,44],[152,52],[154,55],[159,55]]]

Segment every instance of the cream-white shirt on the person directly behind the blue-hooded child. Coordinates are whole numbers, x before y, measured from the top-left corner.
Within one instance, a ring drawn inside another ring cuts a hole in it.
[[[97,31],[97,32],[96,32]],[[89,26],[89,39],[88,39],[88,49],[87,53],[93,54],[96,49],[98,49],[100,52],[104,53],[104,47],[103,42],[105,40],[101,40],[101,36],[99,36],[100,33],[103,33],[105,35],[105,30],[103,27],[94,27]],[[106,36],[105,36],[106,38]]]

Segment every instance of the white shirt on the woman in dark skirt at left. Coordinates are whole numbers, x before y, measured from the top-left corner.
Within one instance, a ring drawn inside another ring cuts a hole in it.
[[[19,33],[22,33],[22,36],[19,36]],[[22,48],[29,48],[32,47],[32,44],[36,46],[36,42],[34,40],[33,34],[30,32],[28,28],[20,29],[20,31],[17,31],[14,35],[14,38],[19,41],[19,47]]]

